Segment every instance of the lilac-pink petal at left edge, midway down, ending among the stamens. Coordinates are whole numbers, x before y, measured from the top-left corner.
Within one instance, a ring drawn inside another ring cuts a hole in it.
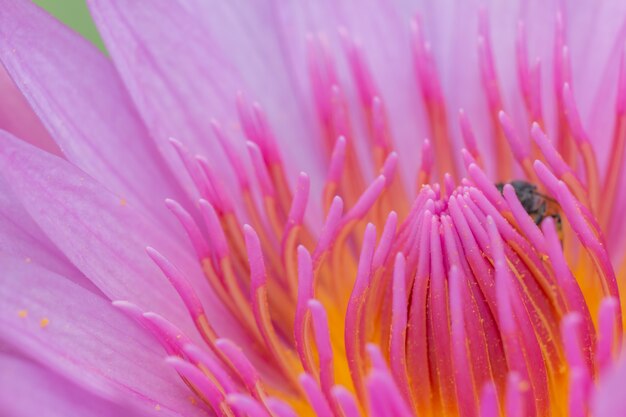
[[[48,238],[110,299],[153,310],[195,334],[178,295],[145,254],[153,246],[183,271],[209,317],[224,317],[193,249],[178,245],[140,208],[71,164],[2,132],[0,172]],[[215,321],[218,329],[229,328],[228,319]]]

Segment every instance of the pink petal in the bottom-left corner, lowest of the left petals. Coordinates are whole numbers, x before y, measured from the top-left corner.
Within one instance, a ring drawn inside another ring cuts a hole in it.
[[[32,362],[0,354],[0,414],[11,417],[143,415],[99,398]]]

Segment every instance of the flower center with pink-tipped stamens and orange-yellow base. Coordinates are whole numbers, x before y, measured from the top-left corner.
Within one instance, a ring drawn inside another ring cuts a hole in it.
[[[563,88],[553,146],[542,131],[540,69],[528,67],[523,25],[518,71],[528,119],[535,122],[530,144],[502,112],[484,14],[480,22],[479,63],[497,159],[493,179],[482,168],[463,112],[463,164],[451,157],[449,109],[419,20],[411,26],[412,50],[432,142],[423,142],[416,187],[406,187],[397,172],[387,110],[346,32],[356,109],[324,43],[309,42],[328,165],[320,202],[309,201],[304,173],[291,191],[269,122],[243,96],[238,110],[252,175],[213,125],[235,173],[234,195],[206,160],[172,141],[201,196],[204,229],[175,201],[168,207],[215,294],[243,329],[245,349],[220,338],[194,290],[154,249],[149,255],[180,294],[206,346],[158,315],[142,320],[183,380],[218,414],[473,416],[480,409],[496,416],[505,409],[507,415],[558,415],[586,407],[589,385],[621,338],[618,289],[602,233],[614,213],[612,204],[600,207],[598,194],[603,189],[615,198],[626,77],[622,71],[616,152],[601,180],[569,87],[562,24],[555,36],[555,77]],[[365,138],[354,134],[356,111],[365,120]],[[358,140],[370,149],[367,161],[356,151]],[[524,181],[512,181],[513,161]],[[572,168],[577,161],[581,170]],[[415,198],[410,188],[417,188]],[[307,217],[312,205],[325,213],[317,230]],[[270,370],[257,371],[267,368],[263,364]]]

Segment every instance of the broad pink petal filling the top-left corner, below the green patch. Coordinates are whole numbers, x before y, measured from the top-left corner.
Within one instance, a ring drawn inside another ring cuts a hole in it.
[[[66,158],[176,227],[163,200],[182,193],[110,61],[32,2],[0,8],[0,60]]]

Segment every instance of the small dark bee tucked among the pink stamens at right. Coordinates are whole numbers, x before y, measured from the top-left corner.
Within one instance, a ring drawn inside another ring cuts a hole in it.
[[[526,213],[535,221],[535,224],[539,226],[547,217],[552,217],[554,220],[554,226],[559,234],[562,231],[562,222],[560,214],[560,206],[557,201],[545,194],[541,194],[537,190],[537,186],[530,182],[523,180],[513,180],[509,183],[499,182],[496,184],[496,188],[502,194],[504,186],[511,184],[517,195],[517,199],[526,210]]]

